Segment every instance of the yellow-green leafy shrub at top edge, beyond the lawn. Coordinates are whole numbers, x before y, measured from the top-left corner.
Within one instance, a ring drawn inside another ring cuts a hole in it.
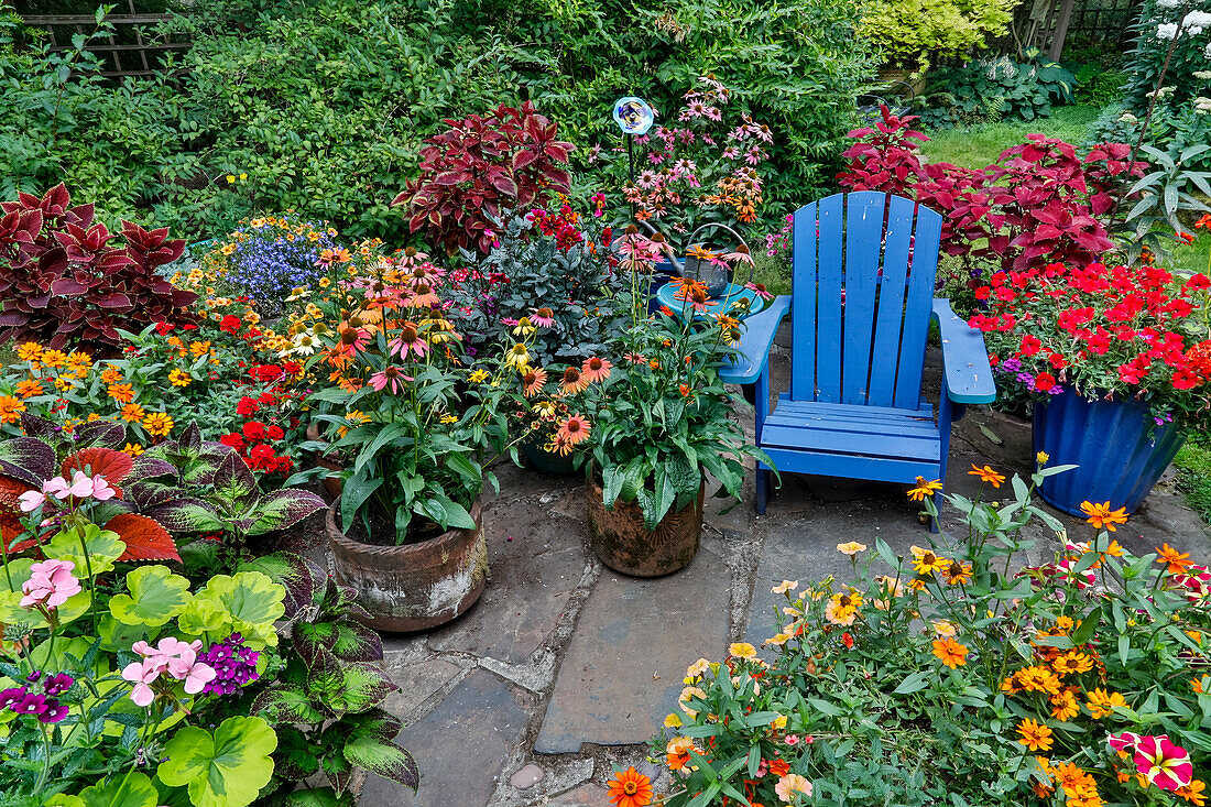
[[[865,0],[859,34],[884,59],[924,68],[1004,34],[1018,0]]]

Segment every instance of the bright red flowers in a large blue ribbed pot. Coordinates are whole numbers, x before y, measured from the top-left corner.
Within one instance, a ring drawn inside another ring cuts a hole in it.
[[[1182,282],[1153,265],[1054,263],[1004,270],[976,290],[998,385],[1034,402],[1040,492],[1080,515],[1083,502],[1140,506],[1211,408],[1211,279]]]

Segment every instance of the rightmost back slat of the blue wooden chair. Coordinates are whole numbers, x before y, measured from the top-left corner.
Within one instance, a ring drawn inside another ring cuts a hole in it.
[[[937,275],[937,250],[942,242],[942,217],[928,207],[917,207],[912,261],[908,269],[908,297],[905,301],[905,327],[900,337],[900,368],[896,372],[895,405],[916,408],[920,401],[920,372],[925,361],[925,339],[934,307],[934,277]]]

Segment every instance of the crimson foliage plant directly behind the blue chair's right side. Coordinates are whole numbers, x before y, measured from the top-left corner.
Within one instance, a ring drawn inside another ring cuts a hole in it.
[[[962,168],[925,165],[912,128],[916,118],[882,109],[874,127],[849,133],[849,164],[838,181],[851,190],[880,190],[916,199],[942,213],[942,250],[969,268],[985,263],[1018,271],[1061,262],[1095,263],[1113,250],[1103,218],[1144,164],[1129,162],[1131,148],[1103,143],[1084,158],[1063,141],[1029,134],[993,165]]]

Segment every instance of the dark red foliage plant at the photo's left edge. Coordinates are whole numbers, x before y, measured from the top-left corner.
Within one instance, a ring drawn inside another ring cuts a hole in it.
[[[183,240],[122,222],[124,242],[115,242],[92,205],[70,205],[62,184],[41,199],[0,202],[0,343],[116,355],[117,328],[188,319],[197,296],[156,274],[180,257]]]

